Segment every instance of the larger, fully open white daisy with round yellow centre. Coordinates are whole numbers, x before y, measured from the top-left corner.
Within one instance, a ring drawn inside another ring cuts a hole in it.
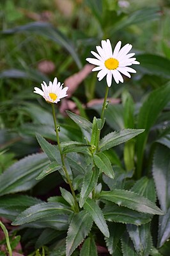
[[[131,44],[126,44],[121,49],[120,47],[121,41],[116,44],[116,47],[112,52],[110,40],[102,40],[102,47],[97,46],[98,53],[91,51],[96,58],[86,58],[89,63],[98,66],[92,69],[92,71],[99,71],[97,74],[99,81],[106,76],[108,87],[111,87],[112,76],[116,83],[119,83],[119,81],[123,83],[121,73],[130,78],[131,76],[129,73],[136,73],[136,71],[128,66],[132,64],[140,64],[136,61],[136,58],[131,58],[135,53],[128,53],[132,49]]]

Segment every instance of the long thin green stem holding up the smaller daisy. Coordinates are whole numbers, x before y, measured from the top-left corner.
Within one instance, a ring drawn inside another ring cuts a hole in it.
[[[62,162],[62,165],[63,165],[63,171],[65,172],[66,180],[68,181],[68,184],[70,185],[70,189],[72,191],[72,196],[73,196],[73,199],[74,199],[74,202],[75,202],[75,210],[76,210],[76,212],[79,212],[79,205],[77,203],[75,192],[73,190],[72,181],[70,180],[70,176],[68,175],[68,171],[67,171],[66,166],[65,166],[65,160],[64,160],[61,145],[60,145],[60,142],[59,142],[58,124],[57,124],[57,120],[56,120],[54,103],[52,103],[51,106],[52,106],[52,115],[53,115],[53,120],[54,120],[54,126],[55,126],[55,130],[56,130],[56,138],[57,138],[57,142],[58,142],[58,149],[59,149],[59,153],[60,153],[60,157],[61,157],[61,162]]]

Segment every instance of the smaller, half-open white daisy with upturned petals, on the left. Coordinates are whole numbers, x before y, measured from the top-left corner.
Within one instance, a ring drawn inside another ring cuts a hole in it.
[[[63,83],[61,85],[60,82],[58,82],[57,78],[54,78],[54,81],[49,81],[49,86],[47,86],[47,83],[43,81],[42,85],[42,90],[39,89],[38,87],[35,87],[35,93],[40,94],[43,96],[43,98],[47,102],[51,103],[58,103],[60,99],[68,96],[66,94],[66,91],[68,90],[68,87],[63,88]]]

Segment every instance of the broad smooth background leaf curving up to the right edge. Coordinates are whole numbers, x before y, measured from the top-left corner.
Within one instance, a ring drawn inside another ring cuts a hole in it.
[[[148,134],[157,121],[158,115],[170,100],[170,83],[150,92],[139,110],[137,128],[144,128],[145,132],[137,137],[137,176],[141,178],[143,154]]]

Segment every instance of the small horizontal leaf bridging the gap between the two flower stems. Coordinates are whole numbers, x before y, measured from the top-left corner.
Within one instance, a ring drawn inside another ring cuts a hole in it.
[[[62,154],[72,153],[72,152],[81,152],[91,147],[89,144],[84,144],[77,141],[68,141],[61,142]]]

